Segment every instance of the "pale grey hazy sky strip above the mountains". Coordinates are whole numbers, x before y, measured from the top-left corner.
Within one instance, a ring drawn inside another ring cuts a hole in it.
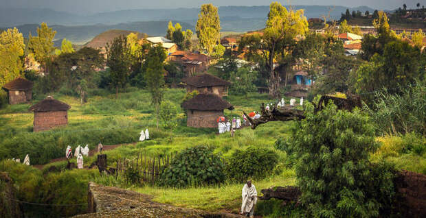
[[[198,8],[203,3],[226,5],[269,5],[267,0],[0,0],[0,8],[50,8],[78,14],[142,8]],[[406,3],[426,5],[426,0],[282,0],[283,5],[366,5],[374,9],[392,10]]]

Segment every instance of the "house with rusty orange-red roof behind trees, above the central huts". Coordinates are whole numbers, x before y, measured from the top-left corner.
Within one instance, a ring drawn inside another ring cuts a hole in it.
[[[192,53],[189,51],[175,51],[168,56],[168,61],[182,64],[183,71],[187,76],[194,73],[203,73],[207,71],[210,65],[209,57],[201,53]]]

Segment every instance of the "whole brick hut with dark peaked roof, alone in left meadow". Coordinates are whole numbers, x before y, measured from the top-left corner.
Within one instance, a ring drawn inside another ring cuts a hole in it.
[[[47,96],[29,109],[34,111],[34,132],[50,130],[68,124],[68,110],[71,106]]]

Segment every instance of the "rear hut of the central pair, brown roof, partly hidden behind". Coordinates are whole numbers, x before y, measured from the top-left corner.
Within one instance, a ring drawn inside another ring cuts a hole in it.
[[[200,94],[212,93],[219,97],[227,96],[228,88],[231,85],[230,82],[208,73],[183,78],[182,82],[186,83],[187,93],[198,90]]]

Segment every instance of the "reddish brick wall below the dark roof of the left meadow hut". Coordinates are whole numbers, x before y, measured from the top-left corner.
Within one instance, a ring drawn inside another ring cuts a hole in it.
[[[68,124],[68,111],[34,112],[34,132],[50,130]]]

